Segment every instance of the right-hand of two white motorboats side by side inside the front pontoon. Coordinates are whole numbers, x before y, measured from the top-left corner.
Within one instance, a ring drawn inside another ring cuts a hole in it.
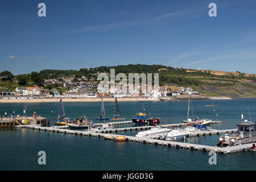
[[[169,140],[169,141],[180,140],[187,137],[188,134],[189,134],[189,131],[186,131],[184,129],[174,129],[168,133],[160,134],[159,139]]]

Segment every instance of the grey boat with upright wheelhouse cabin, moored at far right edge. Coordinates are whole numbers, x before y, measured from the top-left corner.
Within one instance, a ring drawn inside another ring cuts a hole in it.
[[[236,146],[239,144],[255,143],[256,142],[256,122],[243,120],[241,113],[241,122],[237,124],[237,134],[225,134],[218,139],[218,147]]]

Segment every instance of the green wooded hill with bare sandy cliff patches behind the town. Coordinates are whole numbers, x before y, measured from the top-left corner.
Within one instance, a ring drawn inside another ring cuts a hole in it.
[[[164,65],[129,64],[112,67],[81,68],[76,70],[46,69],[39,72],[43,78],[59,78],[73,75],[77,78],[97,78],[98,73],[159,73],[159,85],[176,85],[196,89],[208,96],[256,97],[256,75],[240,72],[207,71],[172,68]],[[0,84],[1,86],[1,84]],[[14,86],[14,85],[11,85]],[[15,85],[16,86],[16,85]]]

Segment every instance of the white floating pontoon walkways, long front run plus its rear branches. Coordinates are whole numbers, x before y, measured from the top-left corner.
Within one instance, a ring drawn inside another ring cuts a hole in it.
[[[35,126],[35,125],[19,125],[16,127],[22,127],[27,129],[33,129],[33,130],[42,130],[42,131],[52,131],[56,133],[64,133],[64,134],[73,134],[73,135],[83,135],[87,137],[98,137],[98,138],[105,138],[108,137],[106,133],[112,133],[120,131],[131,131],[133,130],[143,130],[143,129],[150,129],[151,127],[148,126],[141,126],[141,127],[130,127],[130,128],[122,128],[122,129],[108,129],[105,131],[101,131],[101,133],[92,132],[92,131],[76,131],[76,130],[67,130],[67,129],[59,129],[56,127],[42,127],[42,126]],[[227,134],[227,133],[235,133],[237,129],[231,129],[231,130],[217,130],[217,131],[201,131],[189,134],[189,137],[199,137],[202,135],[219,135],[219,134]],[[191,143],[181,143],[181,142],[170,142],[166,140],[159,140],[154,139],[154,137],[131,137],[127,135],[116,135],[114,134],[114,137],[126,137],[126,141],[130,142],[141,142],[141,143],[147,143],[147,144],[158,144],[162,146],[168,146],[168,147],[177,147],[177,148],[186,148],[188,150],[198,150],[198,151],[210,151],[213,150],[220,154],[232,154],[234,152],[241,152],[246,151],[249,147],[251,147],[251,144],[243,144],[240,146],[232,146],[227,148],[222,147],[212,147],[212,146],[203,146],[199,144],[191,144]]]

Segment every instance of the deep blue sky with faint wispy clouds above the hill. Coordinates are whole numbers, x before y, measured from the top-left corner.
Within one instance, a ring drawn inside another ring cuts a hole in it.
[[[1,0],[0,71],[162,64],[256,73],[255,10],[254,0]]]

